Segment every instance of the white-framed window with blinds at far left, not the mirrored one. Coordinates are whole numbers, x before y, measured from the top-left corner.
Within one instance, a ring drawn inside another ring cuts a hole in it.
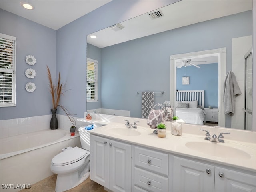
[[[16,106],[16,37],[0,34],[0,106]]]

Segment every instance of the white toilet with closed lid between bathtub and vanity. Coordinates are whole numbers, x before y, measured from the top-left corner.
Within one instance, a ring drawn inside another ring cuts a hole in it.
[[[58,174],[55,191],[62,192],[78,186],[90,176],[90,133],[79,128],[82,148],[68,147],[52,158],[51,171]]]

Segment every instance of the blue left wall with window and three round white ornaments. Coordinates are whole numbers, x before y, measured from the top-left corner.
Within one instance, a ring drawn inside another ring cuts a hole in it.
[[[1,107],[1,120],[50,114],[51,96],[48,90],[46,65],[52,77],[56,74],[56,30],[47,28],[1,9],[1,33],[16,37],[16,107]],[[36,58],[36,64],[26,63],[27,55]],[[29,79],[25,70],[32,68],[36,76]],[[36,85],[36,90],[25,90],[28,82]]]

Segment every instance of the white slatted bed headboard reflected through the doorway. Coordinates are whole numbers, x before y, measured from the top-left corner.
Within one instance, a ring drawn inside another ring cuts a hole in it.
[[[176,92],[176,101],[198,101],[204,108],[204,90],[180,90]]]

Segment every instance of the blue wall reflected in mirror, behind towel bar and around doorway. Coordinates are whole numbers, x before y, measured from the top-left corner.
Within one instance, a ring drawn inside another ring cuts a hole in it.
[[[141,117],[137,91],[164,91],[155,95],[155,103],[170,100],[170,55],[226,47],[229,71],[232,38],[248,35],[252,35],[252,11],[102,48],[102,108],[130,110],[131,116]]]

